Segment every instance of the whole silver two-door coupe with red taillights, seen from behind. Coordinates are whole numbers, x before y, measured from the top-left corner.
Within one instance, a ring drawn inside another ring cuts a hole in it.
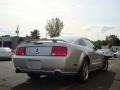
[[[24,42],[16,48],[13,62],[16,73],[27,73],[30,78],[75,75],[87,81],[89,72],[108,68],[108,60],[89,39],[70,36]]]

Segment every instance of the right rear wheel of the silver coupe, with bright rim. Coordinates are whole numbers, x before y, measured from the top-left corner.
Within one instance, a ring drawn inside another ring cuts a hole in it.
[[[86,82],[88,80],[88,77],[89,77],[89,64],[88,64],[88,61],[85,60],[82,63],[82,66],[78,73],[78,78],[80,79],[80,81]]]

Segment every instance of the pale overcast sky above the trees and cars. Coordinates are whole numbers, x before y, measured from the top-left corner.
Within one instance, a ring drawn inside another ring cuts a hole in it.
[[[47,20],[64,23],[61,35],[103,40],[111,34],[120,38],[120,0],[0,0],[0,36],[30,35],[38,29],[46,36]]]

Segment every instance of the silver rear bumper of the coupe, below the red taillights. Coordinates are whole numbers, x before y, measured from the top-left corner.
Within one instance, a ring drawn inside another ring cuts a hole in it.
[[[67,57],[52,56],[14,56],[16,73],[64,74],[73,75],[74,71],[66,71]]]

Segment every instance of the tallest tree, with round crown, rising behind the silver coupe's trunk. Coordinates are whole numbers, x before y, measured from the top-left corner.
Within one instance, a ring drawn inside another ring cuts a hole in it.
[[[51,20],[48,20],[46,25],[47,35],[50,37],[59,36],[63,29],[63,26],[63,22],[60,21],[59,18],[52,18]]]

